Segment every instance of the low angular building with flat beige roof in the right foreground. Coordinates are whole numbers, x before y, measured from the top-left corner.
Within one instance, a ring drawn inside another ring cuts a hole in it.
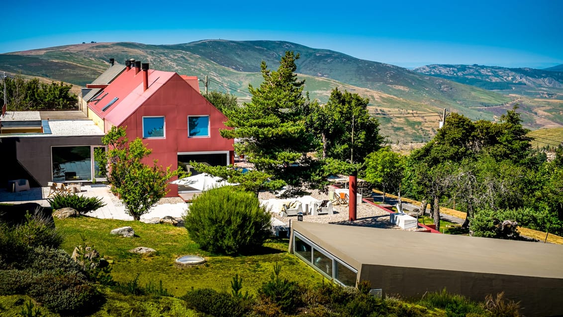
[[[563,245],[294,221],[289,252],[339,284],[367,280],[378,296],[504,292],[526,316],[563,315]]]

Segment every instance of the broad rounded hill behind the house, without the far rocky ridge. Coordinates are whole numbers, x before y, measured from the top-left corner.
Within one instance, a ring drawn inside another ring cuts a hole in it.
[[[408,137],[405,142],[430,139],[436,132],[438,120],[417,117],[414,115],[417,112],[441,114],[443,108],[448,108],[471,119],[493,120],[515,102],[521,102],[516,95],[287,41],[208,39],[162,45],[136,42],[71,44],[0,54],[0,69],[85,86],[108,67],[109,58],[118,62],[134,58],[149,62],[154,69],[200,78],[208,75],[213,79],[210,89],[229,91],[238,95],[241,101],[248,101],[248,84],[256,87],[262,81],[261,61],[264,60],[269,69],[276,69],[286,50],[300,53],[301,58],[296,61],[297,73],[306,79],[305,90],[312,98],[325,102],[334,87],[368,97],[370,111],[384,114],[378,119],[391,141],[403,141],[401,136]],[[405,118],[385,115],[397,111],[413,115]],[[563,124],[563,118],[553,114],[539,120],[532,105],[524,104],[521,111],[530,127]]]

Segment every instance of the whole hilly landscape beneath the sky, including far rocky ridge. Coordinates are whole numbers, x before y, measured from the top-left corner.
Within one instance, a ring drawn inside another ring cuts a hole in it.
[[[113,57],[149,62],[154,69],[210,79],[209,89],[248,101],[248,84],[262,80],[260,63],[276,69],[287,50],[300,53],[297,73],[321,102],[339,87],[370,101],[391,143],[424,142],[435,133],[443,108],[471,119],[494,120],[513,104],[527,127],[563,127],[563,73],[479,65],[428,65],[409,70],[343,53],[282,41],[207,40],[174,45],[86,43],[0,54],[0,71],[90,83]],[[203,83],[200,84],[203,90]]]

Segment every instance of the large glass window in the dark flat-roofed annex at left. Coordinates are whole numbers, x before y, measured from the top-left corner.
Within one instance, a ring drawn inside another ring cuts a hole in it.
[[[92,153],[88,146],[53,146],[53,181],[92,179]]]

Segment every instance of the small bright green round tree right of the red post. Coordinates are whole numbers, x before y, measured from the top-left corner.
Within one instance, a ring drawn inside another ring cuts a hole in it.
[[[401,182],[405,173],[405,162],[402,155],[395,153],[388,146],[368,154],[365,158],[365,181],[381,186],[383,203],[388,191],[399,194],[401,200]]]

